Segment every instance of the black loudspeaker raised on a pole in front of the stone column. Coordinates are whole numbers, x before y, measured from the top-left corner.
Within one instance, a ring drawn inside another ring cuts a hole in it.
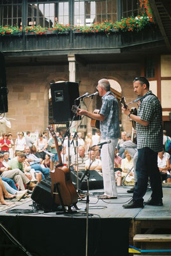
[[[50,92],[52,96],[52,112],[55,123],[68,122],[73,119],[72,106],[74,100],[79,97],[78,83],[63,82],[50,84]],[[79,101],[77,100],[77,105]],[[74,120],[79,120],[79,116],[75,115]]]

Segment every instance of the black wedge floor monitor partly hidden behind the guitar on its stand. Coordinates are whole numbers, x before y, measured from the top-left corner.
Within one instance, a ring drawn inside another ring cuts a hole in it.
[[[51,210],[52,209],[52,195],[51,195],[51,179],[50,177],[41,180],[40,183],[36,185],[31,194],[31,199],[36,202],[42,209]]]

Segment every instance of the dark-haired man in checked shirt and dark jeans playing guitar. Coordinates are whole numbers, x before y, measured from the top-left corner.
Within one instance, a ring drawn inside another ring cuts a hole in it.
[[[151,182],[152,195],[145,205],[163,205],[161,175],[158,168],[158,152],[163,149],[162,109],[158,98],[149,90],[149,81],[145,77],[136,77],[133,81],[134,92],[140,100],[138,115],[133,115],[129,108],[123,112],[136,122],[137,131],[137,185],[133,198],[123,207],[143,208],[143,196],[147,191],[148,178]]]

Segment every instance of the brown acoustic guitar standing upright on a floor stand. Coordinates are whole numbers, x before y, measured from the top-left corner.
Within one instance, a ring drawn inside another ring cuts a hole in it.
[[[78,195],[71,181],[70,169],[63,166],[56,133],[50,125],[48,126],[48,130],[54,138],[59,158],[59,164],[56,166],[55,170],[50,171],[51,193],[54,202],[57,205],[62,205],[64,209],[64,206],[70,207],[71,205],[76,205],[78,202]]]

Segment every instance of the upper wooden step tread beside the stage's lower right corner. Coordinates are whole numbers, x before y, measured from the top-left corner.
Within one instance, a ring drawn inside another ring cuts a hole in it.
[[[170,234],[137,234],[133,237],[135,242],[171,242]]]

